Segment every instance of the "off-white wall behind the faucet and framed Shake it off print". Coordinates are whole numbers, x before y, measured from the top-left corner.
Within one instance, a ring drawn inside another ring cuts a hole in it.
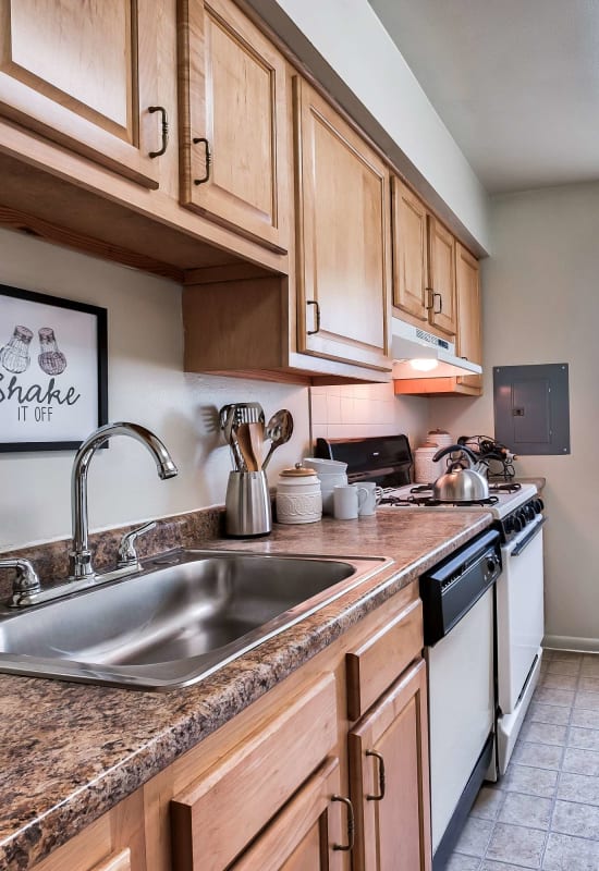
[[[273,456],[271,483],[305,453],[307,388],[183,372],[179,285],[8,231],[0,231],[0,284],[108,308],[109,419],[155,431],[179,466],[176,478],[160,481],[140,444],[113,439],[89,470],[93,530],[222,504],[230,457],[216,413],[228,402],[257,400],[267,418],[281,407],[293,414],[295,431]],[[0,453],[1,549],[70,536],[73,456]]]

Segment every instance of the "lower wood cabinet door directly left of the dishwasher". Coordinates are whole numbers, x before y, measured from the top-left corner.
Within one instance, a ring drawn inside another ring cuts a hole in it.
[[[351,731],[349,741],[354,871],[430,871],[424,660]]]

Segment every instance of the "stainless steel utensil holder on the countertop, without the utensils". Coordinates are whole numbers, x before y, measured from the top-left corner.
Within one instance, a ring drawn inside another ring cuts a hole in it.
[[[252,538],[272,531],[270,493],[262,469],[229,473],[224,506],[228,536]]]

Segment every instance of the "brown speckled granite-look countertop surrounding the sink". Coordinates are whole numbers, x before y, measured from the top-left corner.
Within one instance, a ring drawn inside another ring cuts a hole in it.
[[[0,675],[0,868],[30,868],[491,520],[479,511],[403,510],[359,520],[276,524],[264,539],[198,541],[201,548],[394,562],[185,689],[154,694]]]

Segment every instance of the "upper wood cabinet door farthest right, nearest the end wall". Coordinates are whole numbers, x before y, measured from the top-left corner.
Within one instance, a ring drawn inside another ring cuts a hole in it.
[[[457,295],[457,347],[460,357],[482,363],[480,338],[480,281],[478,260],[460,243],[455,249],[455,290]],[[462,376],[463,387],[482,387],[482,376]]]

